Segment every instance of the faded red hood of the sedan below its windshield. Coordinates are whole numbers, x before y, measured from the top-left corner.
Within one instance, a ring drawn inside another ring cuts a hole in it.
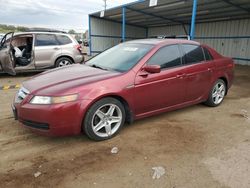
[[[86,65],[71,65],[46,71],[23,82],[31,94],[61,95],[75,87],[117,76],[121,73]]]

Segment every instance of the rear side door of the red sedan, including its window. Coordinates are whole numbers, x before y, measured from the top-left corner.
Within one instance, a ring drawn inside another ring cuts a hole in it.
[[[199,101],[210,90],[213,62],[206,61],[201,46],[182,44],[186,67],[186,101]]]

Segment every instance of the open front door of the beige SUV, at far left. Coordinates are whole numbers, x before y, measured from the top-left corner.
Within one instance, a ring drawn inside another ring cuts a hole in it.
[[[10,75],[16,75],[15,71],[15,59],[13,54],[13,47],[11,42],[14,32],[7,33],[0,43],[0,62],[4,72]]]

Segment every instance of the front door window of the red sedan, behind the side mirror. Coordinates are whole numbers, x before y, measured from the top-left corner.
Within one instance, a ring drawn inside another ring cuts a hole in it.
[[[160,65],[162,69],[181,65],[181,53],[178,45],[159,49],[148,61],[149,65]]]

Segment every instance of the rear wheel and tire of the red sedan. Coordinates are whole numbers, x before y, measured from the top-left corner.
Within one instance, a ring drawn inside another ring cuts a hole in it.
[[[226,95],[227,86],[222,79],[218,79],[209,93],[208,100],[205,102],[207,106],[219,106]]]

